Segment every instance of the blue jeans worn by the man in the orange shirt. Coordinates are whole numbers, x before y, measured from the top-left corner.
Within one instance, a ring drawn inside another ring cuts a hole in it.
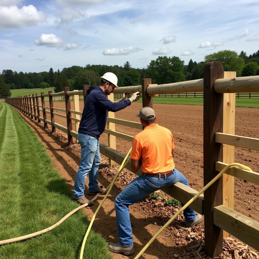
[[[187,179],[176,169],[173,170],[172,175],[160,179],[143,173],[121,191],[114,201],[119,243],[121,246],[133,246],[133,237],[131,236],[132,228],[128,206],[145,198],[149,193],[174,185],[177,182],[189,186]],[[187,223],[195,221],[195,211],[191,208],[187,207],[183,211],[183,214]]]

